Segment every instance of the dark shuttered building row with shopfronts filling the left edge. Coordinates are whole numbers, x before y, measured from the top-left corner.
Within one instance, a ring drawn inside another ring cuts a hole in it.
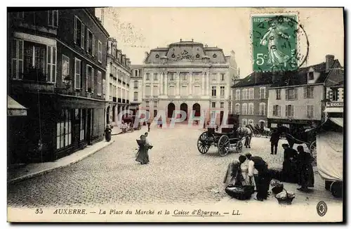
[[[11,163],[52,161],[103,138],[107,37],[93,8],[8,13],[8,94],[27,107],[11,121],[20,132],[9,127]]]

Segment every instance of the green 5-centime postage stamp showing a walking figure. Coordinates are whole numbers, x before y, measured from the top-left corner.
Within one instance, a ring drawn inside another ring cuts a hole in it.
[[[298,68],[297,15],[251,16],[253,71]]]

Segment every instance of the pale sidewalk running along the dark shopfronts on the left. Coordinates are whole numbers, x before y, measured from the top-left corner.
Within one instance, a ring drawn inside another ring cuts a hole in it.
[[[27,164],[22,168],[13,169],[12,171],[7,172],[8,183],[18,183],[29,178],[49,173],[55,169],[60,169],[62,167],[77,163],[82,159],[93,155],[95,152],[102,150],[102,148],[107,147],[107,145],[111,145],[112,143],[114,143],[114,140],[110,140],[110,142],[107,143],[104,138],[104,140],[95,143],[94,145],[88,145],[83,150],[78,150],[77,152],[72,153],[72,155],[62,157],[55,162]]]

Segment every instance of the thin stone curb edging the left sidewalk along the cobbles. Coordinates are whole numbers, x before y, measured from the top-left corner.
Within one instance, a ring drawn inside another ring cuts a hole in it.
[[[84,155],[84,156],[81,156],[79,159],[76,159],[74,160],[73,162],[69,162],[67,164],[63,164],[63,165],[60,165],[60,166],[54,166],[52,168],[49,168],[49,169],[44,169],[44,170],[41,170],[41,171],[37,171],[37,172],[34,172],[32,174],[27,174],[27,175],[24,175],[24,176],[20,176],[18,178],[13,178],[12,180],[8,181],[7,183],[8,184],[15,184],[15,183],[19,183],[21,181],[25,181],[25,180],[28,180],[30,178],[34,178],[34,177],[37,177],[37,176],[42,176],[44,174],[48,174],[56,169],[62,169],[64,167],[67,167],[67,166],[70,166],[72,164],[75,164],[77,162],[80,162],[81,160],[83,159],[86,159],[86,157],[89,157],[93,154],[95,154],[95,152],[98,152],[100,150],[102,150],[103,148],[109,146],[109,145],[112,145],[112,143],[114,143],[114,140],[110,140],[109,143],[107,143],[107,145],[103,145],[102,147],[98,148],[97,150],[94,150],[93,152],[90,152],[88,153],[87,155]]]

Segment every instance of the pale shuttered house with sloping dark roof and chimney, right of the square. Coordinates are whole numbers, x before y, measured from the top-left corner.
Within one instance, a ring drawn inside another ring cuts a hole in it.
[[[288,127],[305,128],[324,121],[326,79],[340,63],[333,55],[326,55],[326,62],[302,67],[298,72],[284,74],[274,80],[269,89],[268,126],[278,123]]]

